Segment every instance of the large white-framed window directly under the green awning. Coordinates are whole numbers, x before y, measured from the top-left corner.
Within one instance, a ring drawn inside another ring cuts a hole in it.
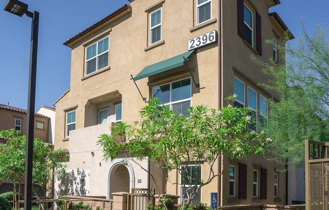
[[[169,105],[177,114],[189,116],[191,107],[191,78],[155,86],[152,88],[152,97],[159,102]]]

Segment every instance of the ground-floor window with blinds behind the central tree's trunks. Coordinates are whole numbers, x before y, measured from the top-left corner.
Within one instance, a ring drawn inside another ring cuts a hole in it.
[[[185,168],[185,169],[184,169]],[[182,176],[182,173],[185,173],[185,176]],[[202,167],[201,165],[189,165],[189,166],[181,166],[181,198],[183,198],[185,194],[185,190],[189,189],[193,186],[198,186],[198,183],[201,182],[202,179]],[[183,187],[185,186],[185,189]],[[201,193],[202,189],[199,188],[195,197],[191,200],[192,204],[198,204],[201,202]],[[186,196],[185,196],[186,197]]]

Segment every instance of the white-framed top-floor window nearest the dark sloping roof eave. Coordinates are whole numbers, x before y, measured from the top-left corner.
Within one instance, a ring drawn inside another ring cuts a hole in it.
[[[86,47],[85,75],[108,67],[108,40],[107,36]]]

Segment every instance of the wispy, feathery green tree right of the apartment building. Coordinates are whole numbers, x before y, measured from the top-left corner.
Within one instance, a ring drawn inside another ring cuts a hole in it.
[[[279,101],[269,101],[268,121],[262,126],[273,139],[271,157],[284,164],[302,160],[305,139],[329,137],[329,43],[321,27],[309,35],[302,26],[302,36],[294,44],[287,33],[284,43],[277,45],[283,55],[280,63],[251,57],[269,78],[260,85],[280,96]]]

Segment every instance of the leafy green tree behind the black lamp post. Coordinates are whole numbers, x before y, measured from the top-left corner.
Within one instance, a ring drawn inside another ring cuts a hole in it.
[[[0,180],[14,185],[14,200],[16,200],[16,185],[24,180],[26,136],[14,130],[0,131]],[[52,179],[53,169],[65,168],[63,162],[67,159],[63,149],[52,149],[47,142],[34,139],[33,144],[33,184],[45,187]],[[18,197],[19,199],[19,197]]]

